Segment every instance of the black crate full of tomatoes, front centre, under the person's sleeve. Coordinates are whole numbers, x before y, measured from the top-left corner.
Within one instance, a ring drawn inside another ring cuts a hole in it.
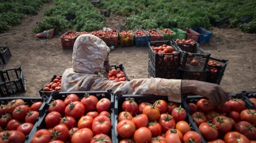
[[[205,142],[183,104],[166,96],[117,94],[115,134],[113,142]]]

